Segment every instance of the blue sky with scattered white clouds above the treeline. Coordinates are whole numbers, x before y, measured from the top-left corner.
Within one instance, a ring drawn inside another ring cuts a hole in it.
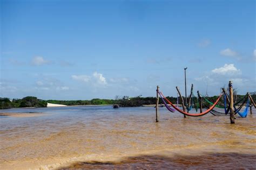
[[[0,3],[0,97],[256,91],[253,0]]]

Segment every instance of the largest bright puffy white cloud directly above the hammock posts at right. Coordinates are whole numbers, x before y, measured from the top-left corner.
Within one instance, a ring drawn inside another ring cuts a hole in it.
[[[234,64],[225,64],[223,67],[219,67],[216,69],[212,70],[212,73],[217,73],[221,75],[226,75],[226,74],[240,74],[241,71],[237,69]]]

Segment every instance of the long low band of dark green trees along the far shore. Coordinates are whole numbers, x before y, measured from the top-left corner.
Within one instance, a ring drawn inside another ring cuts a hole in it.
[[[176,97],[166,97],[168,100],[170,100],[173,104],[177,103]],[[215,100],[217,100],[218,96],[213,97],[206,97],[208,100],[210,100],[212,103],[214,103]],[[244,96],[237,95],[237,98],[234,98],[235,101],[240,101]],[[254,101],[256,101],[256,94],[252,95],[252,98]],[[196,98],[194,98],[194,101],[197,101]],[[242,101],[241,101],[242,102]],[[0,98],[0,109],[4,108],[15,108],[15,107],[46,107],[47,103],[52,104],[62,104],[67,106],[73,106],[73,105],[112,105],[112,104],[118,104],[122,107],[136,107],[136,106],[143,106],[143,105],[152,105],[156,104],[156,97],[131,97],[124,96],[122,98],[119,98],[118,96],[116,99],[92,99],[92,100],[40,100],[36,97],[25,97],[23,99],[12,99],[10,101],[9,98]],[[163,101],[160,99],[159,104],[163,104]],[[181,104],[181,99],[179,98],[179,104]],[[224,106],[224,98],[222,97],[220,99],[219,104],[220,106]],[[208,103],[203,100],[203,107],[209,106]]]

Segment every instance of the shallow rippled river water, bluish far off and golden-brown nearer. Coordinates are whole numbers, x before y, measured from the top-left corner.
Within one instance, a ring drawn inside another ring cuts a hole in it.
[[[183,118],[153,107],[19,108],[0,117],[0,169],[256,168],[256,110]],[[193,112],[193,111],[192,111]],[[43,114],[39,114],[43,113]]]

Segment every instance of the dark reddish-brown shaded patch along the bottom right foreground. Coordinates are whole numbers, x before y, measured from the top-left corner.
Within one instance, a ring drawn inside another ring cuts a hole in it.
[[[255,169],[256,155],[239,153],[214,153],[198,156],[142,155],[129,157],[122,161],[76,162],[64,169]],[[245,164],[245,162],[247,162]]]

